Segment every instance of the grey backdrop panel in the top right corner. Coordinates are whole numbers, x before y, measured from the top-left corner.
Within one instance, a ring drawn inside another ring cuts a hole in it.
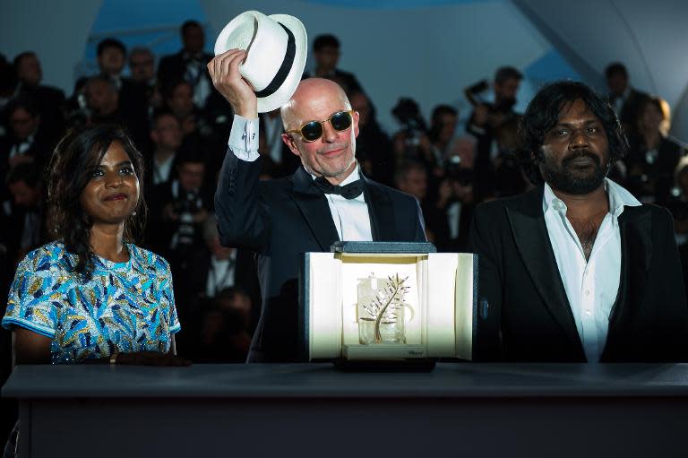
[[[672,134],[688,140],[688,2],[685,0],[514,0],[547,24],[577,58],[604,72],[621,61],[633,86],[667,99],[674,109]],[[569,56],[571,57],[571,56]],[[575,60],[575,59],[571,59]]]

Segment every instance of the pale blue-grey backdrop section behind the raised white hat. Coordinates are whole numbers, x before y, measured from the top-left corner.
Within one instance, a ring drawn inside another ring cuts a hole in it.
[[[400,97],[417,99],[426,117],[440,103],[460,104],[462,90],[491,78],[499,65],[523,68],[550,45],[510,2],[406,9],[345,8],[297,0],[201,0],[217,31],[236,14],[296,15],[309,48],[315,36],[341,41],[340,68],[357,75],[374,101],[378,120],[396,130],[390,109]],[[209,41],[214,41],[211,37]],[[309,55],[306,69],[312,69]]]

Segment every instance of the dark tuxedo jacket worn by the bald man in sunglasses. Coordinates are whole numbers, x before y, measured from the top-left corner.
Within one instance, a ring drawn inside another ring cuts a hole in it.
[[[339,238],[327,199],[303,167],[268,181],[258,180],[260,169],[260,160],[238,160],[228,151],[215,194],[219,238],[258,255],[262,311],[248,360],[297,361],[301,255],[328,252]],[[363,179],[374,240],[426,240],[414,197]]]

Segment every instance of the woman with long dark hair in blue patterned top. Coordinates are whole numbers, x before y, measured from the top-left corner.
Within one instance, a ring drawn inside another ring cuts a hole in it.
[[[132,141],[113,125],[75,129],[48,170],[55,241],[19,264],[2,322],[15,364],[188,364],[169,265],[133,245],[146,208]]]

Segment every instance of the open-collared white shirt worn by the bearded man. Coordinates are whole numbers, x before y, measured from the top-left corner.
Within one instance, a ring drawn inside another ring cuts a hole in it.
[[[606,178],[609,212],[599,226],[589,260],[581,241],[566,218],[566,204],[545,184],[542,208],[559,275],[571,305],[573,319],[589,362],[598,362],[605,350],[609,315],[621,280],[621,233],[618,218],[624,205],[641,205],[638,200]]]

